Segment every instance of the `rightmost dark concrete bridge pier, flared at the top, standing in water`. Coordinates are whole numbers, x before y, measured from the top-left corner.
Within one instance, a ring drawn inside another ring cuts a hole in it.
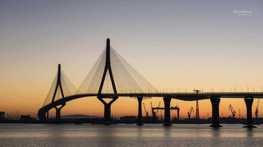
[[[249,99],[247,99],[249,98]],[[246,108],[247,108],[247,125],[244,126],[243,128],[256,128],[255,126],[252,125],[252,104],[253,104],[253,96],[251,97],[245,97],[245,103],[246,103]]]

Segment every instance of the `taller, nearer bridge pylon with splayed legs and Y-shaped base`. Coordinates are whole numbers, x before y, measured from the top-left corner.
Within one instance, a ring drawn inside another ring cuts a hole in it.
[[[102,88],[103,88],[103,84],[104,84],[104,80],[107,74],[107,70],[109,71],[109,75],[110,75],[110,81],[112,83],[112,88],[113,88],[113,92],[114,92],[114,96],[109,96],[109,95],[102,95]],[[102,76],[102,80],[100,83],[100,87],[99,87],[99,91],[98,91],[98,95],[97,98],[104,104],[104,122],[102,122],[103,124],[115,124],[110,120],[110,105],[118,99],[117,95],[117,90],[116,90],[116,86],[114,83],[114,79],[113,79],[113,75],[112,75],[112,68],[110,66],[110,39],[107,38],[107,46],[106,46],[106,63],[105,63],[105,69],[103,72],[103,76]],[[112,98],[112,100],[109,103],[106,103],[103,98]]]

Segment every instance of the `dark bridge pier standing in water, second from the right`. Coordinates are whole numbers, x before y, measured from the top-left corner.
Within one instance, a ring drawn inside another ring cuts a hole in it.
[[[211,104],[212,104],[212,125],[209,127],[222,127],[219,124],[219,103],[220,98],[218,97],[211,97],[210,98]]]

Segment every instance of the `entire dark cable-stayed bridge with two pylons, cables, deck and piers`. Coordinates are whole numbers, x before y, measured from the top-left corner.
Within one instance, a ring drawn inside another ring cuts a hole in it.
[[[262,92],[220,92],[220,93],[159,93],[136,70],[133,69],[111,46],[110,39],[97,62],[77,89],[58,65],[58,72],[42,108],[38,110],[39,121],[48,120],[48,111],[56,109],[56,121],[60,121],[60,111],[66,102],[83,97],[97,97],[104,104],[104,122],[115,124],[110,118],[110,106],[119,97],[138,99],[138,124],[142,124],[141,102],[151,97],[164,100],[164,126],[170,126],[171,99],[185,101],[210,99],[212,104],[212,127],[219,127],[220,98],[244,98],[247,107],[247,126],[252,126],[252,103],[254,98],[263,98]],[[112,99],[109,103],[105,98]],[[62,106],[60,106],[62,105]],[[58,106],[60,106],[58,108]],[[47,115],[47,117],[46,117]]]

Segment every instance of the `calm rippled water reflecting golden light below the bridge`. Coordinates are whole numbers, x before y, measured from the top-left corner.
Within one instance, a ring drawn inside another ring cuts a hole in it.
[[[263,146],[263,125],[0,124],[0,146]]]

